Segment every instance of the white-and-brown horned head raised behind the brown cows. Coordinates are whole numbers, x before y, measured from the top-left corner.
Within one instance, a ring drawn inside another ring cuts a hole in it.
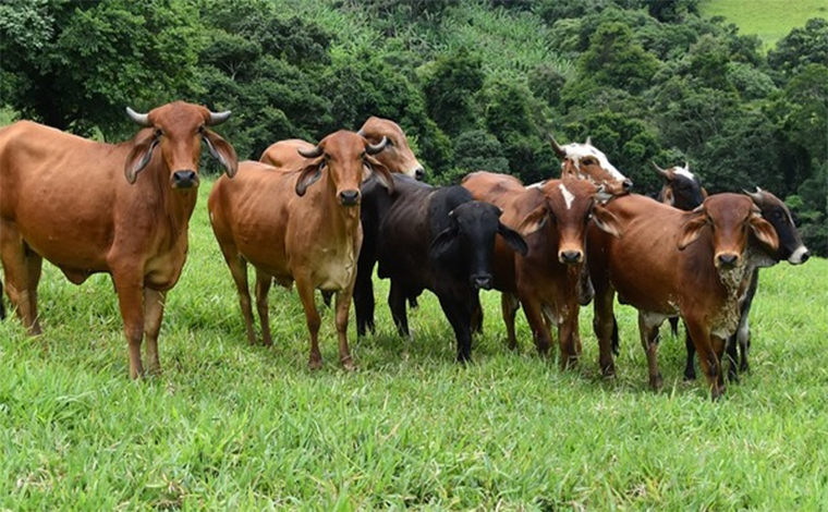
[[[611,196],[623,195],[632,191],[633,182],[621,174],[607,156],[592,144],[589,137],[584,144],[572,143],[561,146],[549,137],[555,154],[561,160],[561,178],[588,180],[596,185],[604,185],[604,192]]]

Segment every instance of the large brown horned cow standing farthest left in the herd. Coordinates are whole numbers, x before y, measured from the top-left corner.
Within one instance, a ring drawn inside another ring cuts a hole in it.
[[[196,202],[200,143],[232,176],[232,146],[209,130],[230,117],[176,101],[148,114],[130,142],[87,141],[28,121],[0,131],[0,258],[7,293],[29,333],[40,332],[42,258],[75,284],[112,276],[130,344],[130,376],[160,370],[165,295],[179,280]],[[124,179],[125,176],[125,179]]]

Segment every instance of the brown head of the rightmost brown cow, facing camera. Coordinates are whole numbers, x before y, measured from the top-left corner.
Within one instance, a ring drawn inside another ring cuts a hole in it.
[[[744,261],[748,231],[769,251],[779,247],[774,227],[750,197],[741,194],[715,194],[702,206],[687,214],[679,236],[679,249],[684,249],[709,228],[713,233],[714,265],[719,270],[740,268]]]

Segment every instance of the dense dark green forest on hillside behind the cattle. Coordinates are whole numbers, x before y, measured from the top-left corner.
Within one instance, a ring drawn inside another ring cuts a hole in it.
[[[828,255],[828,22],[765,52],[698,0],[7,0],[3,119],[120,141],[124,108],[232,110],[240,158],[398,121],[453,183],[557,175],[549,136],[593,144],[655,193],[690,163],[710,193],[769,190]],[[214,170],[218,172],[218,169]]]

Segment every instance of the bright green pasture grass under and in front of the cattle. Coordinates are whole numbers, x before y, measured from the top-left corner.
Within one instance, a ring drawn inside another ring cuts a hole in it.
[[[717,403],[682,381],[669,336],[665,390],[647,388],[629,307],[611,381],[588,308],[584,361],[561,371],[522,317],[521,350],[506,349],[496,293],[464,368],[428,293],[415,339],[394,334],[385,283],[378,334],[351,338],[360,369],[338,365],[325,310],[326,366],[312,373],[295,292],[271,292],[276,345],[246,344],[208,188],[169,294],[161,376],[129,380],[104,276],[74,287],[47,265],[45,334],[0,325],[0,510],[828,509],[828,261],[763,272],[752,373]]]

